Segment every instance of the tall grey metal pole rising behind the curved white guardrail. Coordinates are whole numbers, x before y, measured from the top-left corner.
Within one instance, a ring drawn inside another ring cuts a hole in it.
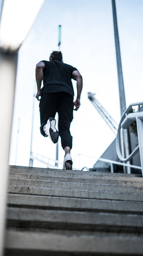
[[[117,61],[117,71],[118,71],[120,111],[121,111],[121,116],[122,116],[123,112],[126,110],[126,98],[125,98],[125,90],[124,90],[124,84],[123,84],[123,72],[122,72],[121,52],[120,52],[120,43],[119,43],[119,35],[118,35],[118,24],[117,24],[115,0],[112,0],[112,12],[113,12],[116,61]],[[123,143],[121,143],[121,144],[123,145],[122,151],[123,151],[124,157],[129,156],[130,142],[129,142],[129,134],[128,134],[127,130],[123,131]],[[127,167],[125,172],[131,173],[130,167]]]

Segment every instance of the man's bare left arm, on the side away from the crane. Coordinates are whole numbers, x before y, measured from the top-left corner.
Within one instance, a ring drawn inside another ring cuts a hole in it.
[[[45,68],[45,63],[40,61],[36,65],[36,83],[37,83],[37,93],[36,93],[36,99],[39,100],[40,96],[40,88],[41,88],[41,83],[43,80],[43,69]]]

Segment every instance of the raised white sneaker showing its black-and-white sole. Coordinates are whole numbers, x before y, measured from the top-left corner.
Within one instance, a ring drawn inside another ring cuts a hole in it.
[[[45,125],[45,134],[50,137],[53,143],[57,143],[59,139],[59,131],[56,130],[56,120],[50,117]]]

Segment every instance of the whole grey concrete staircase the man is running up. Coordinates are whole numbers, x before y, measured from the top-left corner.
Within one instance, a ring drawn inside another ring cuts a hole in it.
[[[5,256],[143,255],[143,178],[10,166],[5,248]]]

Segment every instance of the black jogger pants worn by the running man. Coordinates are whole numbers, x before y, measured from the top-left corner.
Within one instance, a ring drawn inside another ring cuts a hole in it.
[[[55,117],[59,114],[58,129],[61,137],[62,148],[72,148],[73,137],[70,134],[70,123],[73,120],[73,97],[66,92],[43,93],[39,103],[41,134],[45,137],[43,131],[44,125],[49,117]]]

